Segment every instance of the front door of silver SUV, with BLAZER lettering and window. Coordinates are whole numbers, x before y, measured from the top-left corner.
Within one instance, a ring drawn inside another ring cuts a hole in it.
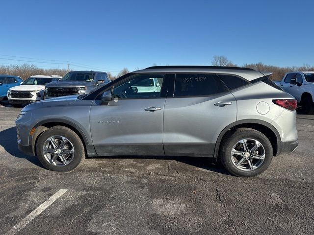
[[[164,74],[137,74],[115,84],[113,100],[101,102],[101,94],[90,110],[90,129],[99,156],[164,155],[163,113],[166,100]],[[154,85],[161,92],[141,92],[136,84]]]

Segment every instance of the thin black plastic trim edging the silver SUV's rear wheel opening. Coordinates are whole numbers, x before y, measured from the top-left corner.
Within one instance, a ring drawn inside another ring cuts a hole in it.
[[[263,121],[263,120],[258,120],[258,119],[242,119],[242,120],[238,120],[235,121],[231,124],[229,124],[228,126],[226,126],[222,132],[219,134],[218,139],[216,141],[216,145],[215,145],[215,150],[214,150],[214,158],[218,157],[218,152],[219,152],[219,147],[220,147],[220,143],[222,138],[224,137],[224,135],[233,127],[238,126],[238,125],[242,125],[242,124],[260,124],[263,125],[265,127],[268,127],[270,130],[272,130],[272,132],[275,134],[276,138],[277,138],[277,146],[279,145],[279,142],[281,141],[279,132],[277,131],[277,129],[271,125],[269,122]],[[240,126],[241,127],[241,126]]]

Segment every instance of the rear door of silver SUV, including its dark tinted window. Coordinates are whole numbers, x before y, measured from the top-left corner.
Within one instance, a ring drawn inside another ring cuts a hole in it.
[[[210,157],[220,132],[235,121],[235,97],[216,74],[177,73],[164,108],[165,154]]]

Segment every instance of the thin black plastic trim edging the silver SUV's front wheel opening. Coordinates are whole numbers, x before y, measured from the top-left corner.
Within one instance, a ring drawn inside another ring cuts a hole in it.
[[[86,133],[77,124],[75,124],[75,123],[73,123],[73,122],[71,122],[69,120],[59,119],[59,118],[45,119],[45,120],[42,120],[42,121],[38,122],[36,125],[33,126],[33,128],[37,129],[37,127],[39,127],[39,126],[42,126],[42,125],[45,125],[45,124],[48,124],[48,123],[52,123],[52,122],[59,122],[59,123],[65,124],[66,126],[72,127],[82,137],[83,144],[84,144],[84,146],[86,148],[87,156],[88,157],[96,157],[96,156],[98,156],[96,151],[95,151],[94,145],[92,143],[89,144]],[[32,144],[33,152],[35,153],[35,150],[34,150],[35,146],[34,146],[34,143],[33,143],[32,139],[30,139],[29,141]]]

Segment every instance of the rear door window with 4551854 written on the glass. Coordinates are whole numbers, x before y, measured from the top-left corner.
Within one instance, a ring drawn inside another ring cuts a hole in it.
[[[176,74],[174,97],[212,95],[227,91],[213,74]]]

